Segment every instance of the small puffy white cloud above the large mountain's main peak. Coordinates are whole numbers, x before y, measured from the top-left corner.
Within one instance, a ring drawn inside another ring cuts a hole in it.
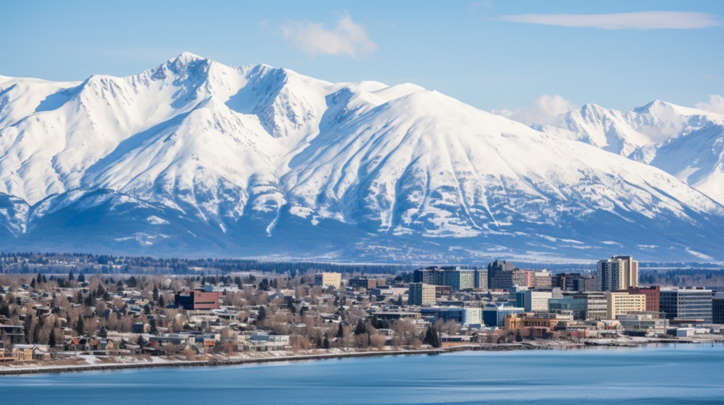
[[[335,22],[334,29],[310,21],[287,21],[281,29],[282,36],[292,46],[310,56],[330,54],[356,58],[377,49],[362,25],[354,22],[346,11]]]

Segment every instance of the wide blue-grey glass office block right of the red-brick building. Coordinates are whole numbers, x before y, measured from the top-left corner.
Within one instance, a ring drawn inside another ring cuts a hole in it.
[[[712,290],[662,289],[660,310],[668,319],[703,319],[712,323]]]

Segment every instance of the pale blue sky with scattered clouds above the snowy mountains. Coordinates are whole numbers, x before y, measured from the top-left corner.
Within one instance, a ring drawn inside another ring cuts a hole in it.
[[[656,98],[694,106],[724,93],[724,1],[4,1],[0,10],[7,76],[125,76],[190,51],[334,82],[414,82],[487,111]],[[649,14],[627,14],[640,12]]]

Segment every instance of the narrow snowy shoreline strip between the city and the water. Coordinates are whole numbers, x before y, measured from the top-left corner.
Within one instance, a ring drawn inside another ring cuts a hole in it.
[[[455,353],[458,351],[518,351],[518,350],[555,350],[555,349],[582,349],[586,347],[613,347],[613,348],[633,348],[641,347],[648,344],[715,344],[720,343],[715,340],[707,341],[672,341],[669,339],[654,339],[652,341],[628,342],[621,344],[615,342],[584,342],[565,345],[535,345],[535,344],[479,344],[479,345],[460,345],[441,347],[437,349],[419,349],[419,350],[389,350],[389,351],[350,351],[341,353],[326,354],[296,354],[290,356],[279,357],[247,357],[247,358],[231,358],[231,359],[209,359],[209,360],[170,360],[168,362],[148,362],[148,363],[106,363],[106,364],[78,364],[78,365],[60,365],[60,366],[38,366],[38,367],[11,367],[0,366],[0,376],[2,375],[28,375],[28,374],[49,374],[59,372],[82,372],[82,371],[104,371],[104,370],[129,370],[143,368],[159,368],[159,367],[217,367],[244,364],[263,364],[278,362],[302,362],[307,360],[323,360],[323,359],[347,359],[353,357],[382,357],[382,356],[405,356],[405,355],[422,355],[422,354],[445,354]]]

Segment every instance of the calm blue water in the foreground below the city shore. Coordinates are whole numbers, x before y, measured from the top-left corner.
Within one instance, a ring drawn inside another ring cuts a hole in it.
[[[724,347],[462,352],[0,376],[0,404],[724,404]]]

